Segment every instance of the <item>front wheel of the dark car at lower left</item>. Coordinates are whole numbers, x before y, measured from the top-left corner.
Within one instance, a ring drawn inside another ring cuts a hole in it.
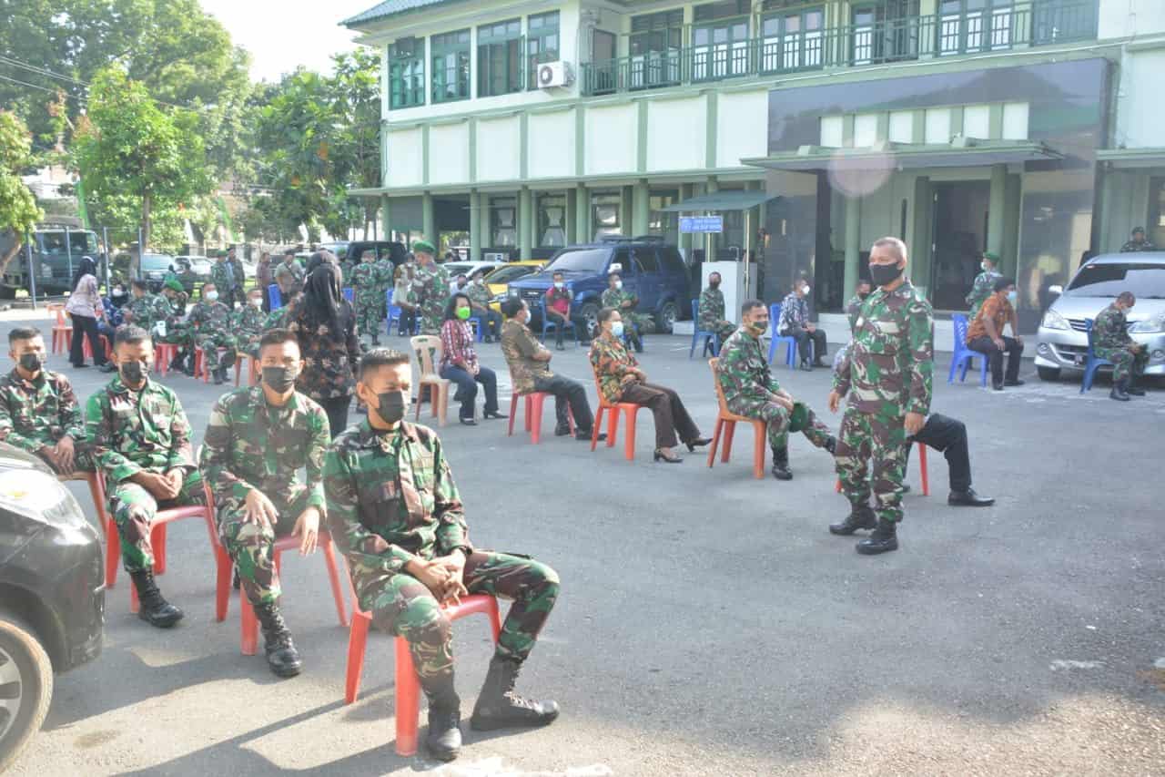
[[[0,774],[41,730],[52,701],[52,664],[31,629],[0,615]]]

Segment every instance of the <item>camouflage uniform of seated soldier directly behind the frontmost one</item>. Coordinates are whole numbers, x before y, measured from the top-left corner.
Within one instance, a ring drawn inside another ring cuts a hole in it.
[[[252,604],[280,597],[275,540],[290,534],[308,508],[326,514],[323,471],[330,439],[327,414],[299,393],[274,407],[262,386],[235,388],[211,411],[198,466],[214,494],[223,546]],[[301,468],[306,468],[306,483],[299,480]],[[246,519],[252,489],[275,505],[274,525]]]

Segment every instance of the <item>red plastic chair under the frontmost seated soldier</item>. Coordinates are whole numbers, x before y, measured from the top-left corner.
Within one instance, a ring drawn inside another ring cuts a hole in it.
[[[372,614],[360,609],[355,589],[352,590],[352,628],[348,631],[348,670],[344,684],[344,704],[351,705],[360,693],[360,676],[363,673],[365,650],[368,646],[368,626],[372,625]],[[471,594],[461,597],[460,604],[443,604],[442,610],[450,621],[464,618],[467,615],[482,614],[489,618],[494,644],[502,632],[501,616],[497,612],[497,600],[486,594]],[[417,722],[421,718],[421,681],[412,666],[412,653],[409,640],[396,637],[396,755],[411,756],[417,752]]]

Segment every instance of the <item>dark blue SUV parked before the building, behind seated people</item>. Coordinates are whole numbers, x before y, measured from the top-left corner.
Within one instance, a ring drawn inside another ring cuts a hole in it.
[[[535,329],[542,327],[542,298],[557,271],[574,292],[574,306],[586,318],[589,336],[594,336],[600,298],[613,272],[619,272],[624,289],[640,298],[636,312],[652,316],[656,331],[671,334],[677,318],[691,310],[687,267],[676,246],[645,238],[606,238],[559,249],[546,267],[509,285],[510,295],[536,303]]]

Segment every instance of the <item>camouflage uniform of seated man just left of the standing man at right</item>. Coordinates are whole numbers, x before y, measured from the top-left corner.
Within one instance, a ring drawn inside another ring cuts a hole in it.
[[[769,393],[781,391],[781,384],[769,370],[769,359],[758,337],[741,328],[725,341],[716,363],[716,380],[730,412],[764,421],[769,447],[774,450],[789,447],[789,411],[769,398]],[[802,434],[818,448],[825,448],[833,436],[829,427],[821,424],[807,405],[805,410],[807,420]]]

